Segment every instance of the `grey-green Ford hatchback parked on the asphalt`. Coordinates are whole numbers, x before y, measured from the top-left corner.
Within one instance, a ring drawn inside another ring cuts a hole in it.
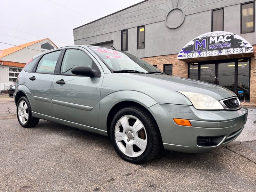
[[[85,45],[33,57],[18,76],[14,100],[22,127],[45,119],[106,135],[117,154],[135,164],[162,147],[202,153],[227,144],[242,132],[248,111],[224,87]]]

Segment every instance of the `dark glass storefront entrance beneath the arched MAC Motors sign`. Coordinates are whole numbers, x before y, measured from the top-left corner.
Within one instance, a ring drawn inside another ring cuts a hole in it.
[[[198,70],[199,68],[199,70]],[[189,78],[217,84],[233,91],[240,100],[250,100],[250,58],[189,63]]]

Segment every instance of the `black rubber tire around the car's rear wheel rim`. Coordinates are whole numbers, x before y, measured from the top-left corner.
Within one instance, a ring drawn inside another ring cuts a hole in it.
[[[28,118],[25,118],[26,122],[21,122],[20,115],[19,115],[19,106],[20,106],[20,104],[24,104],[24,102],[27,104],[27,109],[25,110],[25,112],[26,112],[26,114],[28,114]],[[19,101],[17,103],[16,112],[17,112],[18,121],[22,127],[26,127],[26,128],[34,127],[39,122],[39,118],[32,116],[32,110],[31,110],[30,103],[29,103],[28,99],[24,96],[19,99]]]

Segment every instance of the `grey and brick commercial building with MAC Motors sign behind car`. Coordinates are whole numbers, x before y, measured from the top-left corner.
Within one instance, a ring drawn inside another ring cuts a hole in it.
[[[256,102],[255,1],[146,0],[73,29],[75,44],[114,46],[174,76]]]

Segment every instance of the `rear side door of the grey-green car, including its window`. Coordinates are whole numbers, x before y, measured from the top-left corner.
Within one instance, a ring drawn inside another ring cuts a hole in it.
[[[32,110],[36,113],[53,116],[52,81],[61,50],[44,54],[33,72],[29,73],[26,85],[30,92]]]

